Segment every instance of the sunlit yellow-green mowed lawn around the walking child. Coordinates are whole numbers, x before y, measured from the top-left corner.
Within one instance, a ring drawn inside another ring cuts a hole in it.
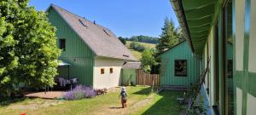
[[[150,94],[150,87],[127,87],[127,92],[129,95],[128,106],[136,103],[137,101],[141,101],[148,97]],[[20,112],[26,112],[28,115],[86,115],[86,114],[97,114],[96,111],[100,110],[104,112],[104,109],[120,108],[120,97],[119,97],[119,89],[113,92],[109,92],[108,95],[100,95],[96,96],[92,99],[83,99],[79,101],[62,101],[59,105],[47,106],[38,109],[11,109],[10,106],[27,106],[28,104],[33,105],[33,101],[44,101],[43,99],[26,99],[24,101],[18,101],[15,103],[11,103],[8,106],[0,106],[0,113],[4,115],[19,115]],[[40,102],[39,102],[40,103]],[[128,108],[127,108],[128,109]]]

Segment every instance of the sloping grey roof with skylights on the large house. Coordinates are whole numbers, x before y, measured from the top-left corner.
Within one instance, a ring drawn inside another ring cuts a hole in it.
[[[97,56],[136,60],[131,55],[130,50],[108,28],[95,24],[54,4],[51,4],[50,7],[61,15],[62,19],[73,28],[73,31],[83,39],[84,43]]]

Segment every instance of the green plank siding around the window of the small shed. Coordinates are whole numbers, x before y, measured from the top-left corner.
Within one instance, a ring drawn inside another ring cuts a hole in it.
[[[198,56],[192,55],[188,42],[183,42],[160,55],[161,72],[160,85],[189,86],[200,76],[200,61]],[[174,73],[174,61],[187,60],[187,77],[177,77]]]

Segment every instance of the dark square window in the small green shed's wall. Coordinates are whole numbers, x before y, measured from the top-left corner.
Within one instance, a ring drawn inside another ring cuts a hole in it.
[[[175,60],[174,63],[175,76],[186,77],[187,76],[187,60]]]

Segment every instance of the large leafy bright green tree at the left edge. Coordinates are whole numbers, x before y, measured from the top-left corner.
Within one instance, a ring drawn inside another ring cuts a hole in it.
[[[55,84],[61,50],[55,27],[28,0],[0,2],[0,96],[9,96],[19,83],[42,88]]]

